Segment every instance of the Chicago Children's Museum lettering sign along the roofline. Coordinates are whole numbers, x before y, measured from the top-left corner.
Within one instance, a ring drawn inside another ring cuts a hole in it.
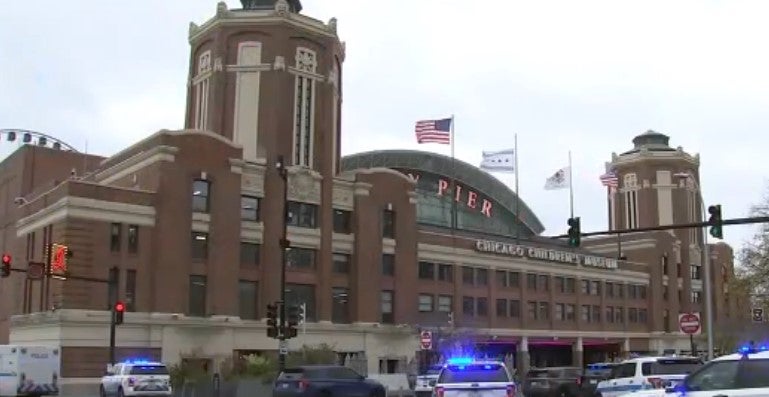
[[[475,250],[493,254],[508,255],[516,258],[529,258],[541,261],[567,263],[603,269],[616,269],[617,260],[602,256],[556,251],[548,248],[527,247],[490,240],[476,240]]]

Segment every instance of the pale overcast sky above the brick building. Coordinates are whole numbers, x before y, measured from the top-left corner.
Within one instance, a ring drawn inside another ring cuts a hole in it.
[[[231,8],[240,2],[227,1]],[[582,230],[607,228],[598,176],[652,129],[699,153],[706,204],[742,217],[769,187],[769,2],[302,0],[346,42],[343,154],[418,149],[414,122],[454,115],[456,157],[519,149],[519,192],[565,233],[572,153]],[[189,23],[214,0],[8,2],[0,11],[0,129],[114,154],[183,127]],[[0,142],[0,156],[15,146]],[[498,175],[511,188],[511,175]],[[726,227],[736,249],[756,231]]]

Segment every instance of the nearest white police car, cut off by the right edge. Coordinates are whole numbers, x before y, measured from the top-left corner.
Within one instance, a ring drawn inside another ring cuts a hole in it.
[[[641,397],[641,392],[622,397]],[[750,344],[737,353],[710,361],[680,384],[643,396],[769,396],[769,345]]]

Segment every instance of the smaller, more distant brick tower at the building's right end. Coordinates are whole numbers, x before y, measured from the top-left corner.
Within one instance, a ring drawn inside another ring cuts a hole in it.
[[[606,167],[616,174],[619,185],[609,190],[610,229],[702,220],[699,155],[686,153],[680,146],[672,148],[669,142],[668,136],[650,130],[633,138],[631,150],[612,154]],[[675,241],[672,249],[661,258],[659,268],[657,263],[648,265],[653,267],[653,279],[662,282],[664,313],[657,313],[659,320],[676,332],[678,313],[703,312],[703,235],[700,229],[669,233]]]

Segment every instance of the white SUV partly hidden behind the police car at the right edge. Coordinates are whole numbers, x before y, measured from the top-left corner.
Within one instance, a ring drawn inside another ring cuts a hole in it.
[[[611,379],[598,383],[595,395],[617,397],[629,392],[675,386],[702,366],[699,357],[638,357],[614,368]]]

